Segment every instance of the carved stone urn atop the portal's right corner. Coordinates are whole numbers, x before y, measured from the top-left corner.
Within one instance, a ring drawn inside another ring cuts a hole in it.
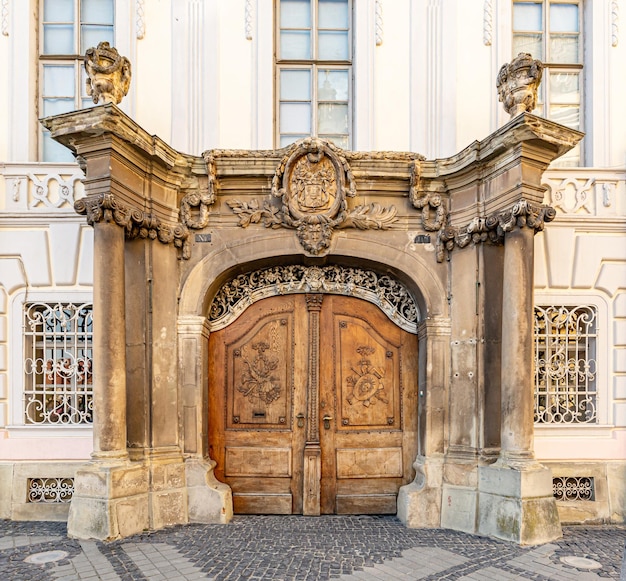
[[[504,110],[511,118],[531,113],[537,106],[537,89],[541,83],[543,64],[527,52],[519,53],[510,63],[502,65],[496,86]]]

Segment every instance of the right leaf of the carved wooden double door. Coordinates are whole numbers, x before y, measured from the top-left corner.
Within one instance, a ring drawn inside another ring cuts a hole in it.
[[[358,299],[327,296],[321,315],[321,512],[395,514],[417,453],[417,337]]]

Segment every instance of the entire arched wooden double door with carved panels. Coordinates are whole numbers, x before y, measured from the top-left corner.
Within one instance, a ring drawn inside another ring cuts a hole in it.
[[[395,514],[417,451],[415,335],[360,299],[287,295],[209,353],[210,454],[236,513]]]

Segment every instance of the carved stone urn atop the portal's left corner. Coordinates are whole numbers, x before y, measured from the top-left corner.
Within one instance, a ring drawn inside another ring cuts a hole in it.
[[[108,42],[87,49],[85,53],[87,71],[87,95],[93,102],[115,103],[126,96],[130,88],[130,61],[119,54]]]

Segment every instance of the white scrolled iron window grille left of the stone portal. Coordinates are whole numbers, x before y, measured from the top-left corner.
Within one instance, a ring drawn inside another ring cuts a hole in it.
[[[90,303],[24,306],[24,421],[93,421],[93,316]]]

